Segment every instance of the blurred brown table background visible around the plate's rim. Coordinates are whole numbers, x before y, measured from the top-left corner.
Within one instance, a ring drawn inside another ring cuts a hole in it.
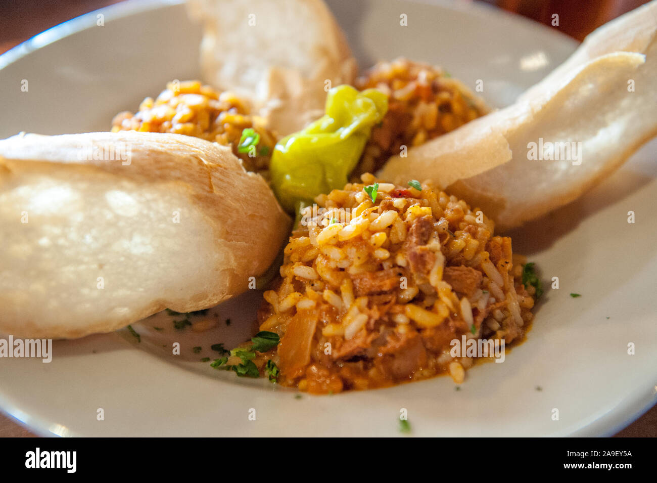
[[[0,53],[70,18],[122,0],[1,0]],[[463,1],[463,0],[461,0]],[[647,0],[477,0],[551,25],[581,41],[600,25],[629,12]],[[0,414],[0,437],[34,436]],[[620,437],[657,437],[657,406],[620,431]]]

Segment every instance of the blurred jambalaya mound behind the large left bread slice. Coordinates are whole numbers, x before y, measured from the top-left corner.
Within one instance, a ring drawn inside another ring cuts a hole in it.
[[[247,171],[266,177],[277,139],[265,124],[263,118],[250,114],[248,101],[234,93],[217,91],[200,81],[173,81],[155,100],[144,99],[136,114],[116,114],[112,132],[174,133],[215,141],[230,146]],[[250,137],[245,129],[253,129]]]

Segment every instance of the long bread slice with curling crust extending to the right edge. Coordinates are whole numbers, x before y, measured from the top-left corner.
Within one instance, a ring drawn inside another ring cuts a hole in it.
[[[657,135],[657,0],[593,32],[516,103],[394,156],[382,179],[430,179],[501,230],[567,204]]]

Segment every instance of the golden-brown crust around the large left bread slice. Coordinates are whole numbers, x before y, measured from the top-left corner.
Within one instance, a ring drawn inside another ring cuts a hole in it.
[[[81,149],[89,146],[99,152],[106,147],[127,148],[129,164],[121,159],[94,160],[80,156]],[[5,189],[15,189],[20,179],[35,174],[52,179],[89,179],[91,183],[104,180],[116,185],[126,183],[153,191],[157,196],[175,194],[187,200],[189,206],[185,209],[193,210],[194,219],[207,224],[200,228],[212,230],[214,252],[194,254],[187,246],[173,250],[181,260],[207,257],[214,263],[208,271],[214,271],[216,277],[198,281],[198,287],[188,287],[188,296],[183,298],[150,294],[150,300],[141,300],[129,307],[127,313],[100,313],[97,319],[91,317],[63,325],[47,319],[21,318],[20,313],[12,310],[12,304],[16,309],[23,302],[5,292],[0,294],[0,305],[4,308],[0,311],[0,332],[17,336],[76,338],[114,331],[164,308],[189,312],[214,306],[246,290],[249,277],[258,277],[267,270],[291,224],[260,175],[246,172],[228,147],[194,137],[120,131],[59,136],[28,134],[0,141],[0,195]],[[7,230],[5,236],[11,235],[11,230],[16,235],[19,229],[20,224],[3,228]],[[20,239],[21,235],[16,236]],[[176,240],[171,242],[175,244]],[[8,257],[11,254],[7,251],[0,256],[7,266],[15,262],[7,260]],[[75,311],[72,317],[76,317]]]

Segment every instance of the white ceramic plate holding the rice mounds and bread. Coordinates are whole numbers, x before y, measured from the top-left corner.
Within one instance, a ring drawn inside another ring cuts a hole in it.
[[[470,86],[483,80],[496,106],[576,47],[556,29],[479,5],[329,5],[361,66],[401,55],[441,64]],[[0,57],[0,137],[107,129],[116,112],[134,109],[166,81],[198,77],[200,35],[183,5],[128,2],[101,12],[104,26],[93,12]],[[401,14],[407,27],[399,26]],[[28,92],[20,89],[24,79]],[[585,198],[514,233],[514,250],[537,262],[543,279],[558,276],[560,289],[547,292],[528,340],[505,363],[469,371],[459,391],[439,377],[296,398],[200,363],[210,344],[248,336],[259,303],[252,292],[217,308],[210,316],[219,324],[208,333],[176,333],[171,317],[158,314],[135,325],[139,344],[120,331],[56,341],[51,363],[0,359],[0,405],[35,432],[60,436],[396,436],[401,408],[418,436],[612,434],[656,401],[656,147],[644,147]],[[627,223],[629,210],[635,224]],[[167,330],[152,329],[160,326]],[[181,356],[162,347],[171,340],[181,342]],[[197,345],[202,354],[191,351]]]

